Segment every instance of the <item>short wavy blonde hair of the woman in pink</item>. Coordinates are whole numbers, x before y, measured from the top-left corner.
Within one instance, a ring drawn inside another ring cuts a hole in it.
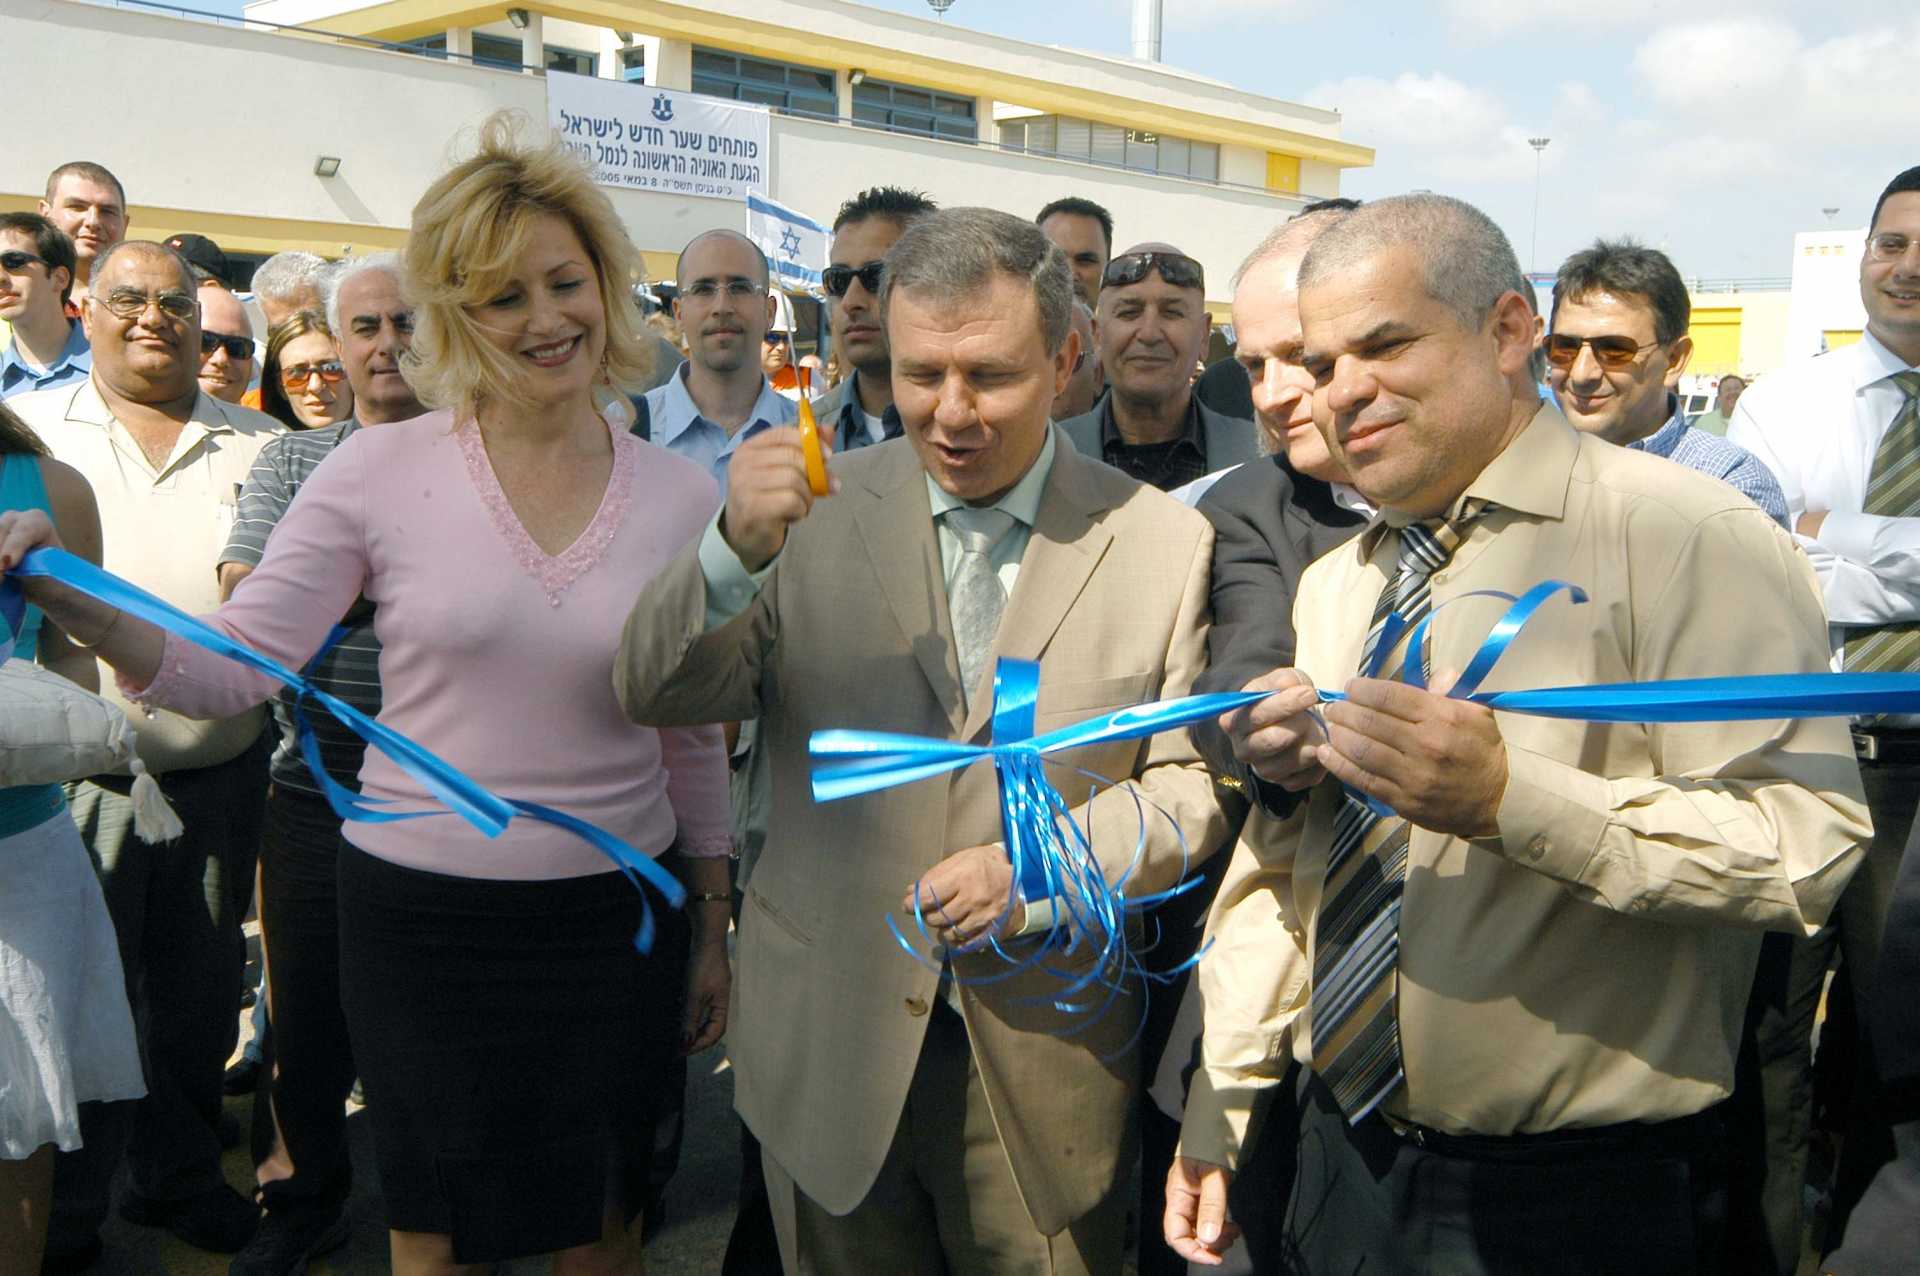
[[[516,111],[495,111],[480,125],[476,154],[413,205],[401,253],[401,290],[415,305],[407,382],[420,403],[453,409],[455,420],[472,418],[490,401],[530,405],[526,372],[482,336],[468,307],[499,295],[543,215],[574,228],[599,276],[605,378],[626,393],[653,370],[634,305],[639,251],[586,165],[559,138],[522,142],[524,125]]]

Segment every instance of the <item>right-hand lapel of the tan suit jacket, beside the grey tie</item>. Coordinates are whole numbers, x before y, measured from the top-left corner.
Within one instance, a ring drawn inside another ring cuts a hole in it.
[[[1039,660],[1114,541],[1114,533],[1092,520],[1112,505],[1091,482],[1096,464],[1081,457],[1066,437],[1058,439],[1054,468],[1046,476],[1027,553],[1020,560],[1020,579],[995,635],[995,658]],[[958,685],[958,677],[954,681]],[[960,739],[972,741],[991,718],[993,697],[977,697],[968,708]]]

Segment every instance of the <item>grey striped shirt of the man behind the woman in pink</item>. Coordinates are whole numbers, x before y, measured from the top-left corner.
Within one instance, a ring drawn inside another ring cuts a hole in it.
[[[359,430],[359,422],[348,416],[338,426],[282,434],[267,443],[240,489],[234,528],[225,553],[221,553],[221,562],[259,566],[267,553],[267,537],[280,524],[286,507],[294,503],[300,485],[355,430]],[[313,662],[307,677],[321,691],[340,697],[369,718],[376,718],[380,714],[380,639],[372,633],[372,606],[363,599],[349,616],[346,637]],[[300,756],[300,743],[294,735],[294,695],[282,691],[271,704],[273,720],[280,727],[280,746],[273,750],[273,783],[321,796],[321,787]],[[307,720],[313,723],[313,739],[321,746],[326,773],[357,792],[367,743],[334,721],[334,716],[323,708],[309,710]]]

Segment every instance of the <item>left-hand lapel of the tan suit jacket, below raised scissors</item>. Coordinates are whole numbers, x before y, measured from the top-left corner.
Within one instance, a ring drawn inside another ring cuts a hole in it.
[[[856,516],[860,543],[906,647],[947,710],[947,721],[958,731],[964,704],[960,656],[947,618],[941,547],[927,508],[925,476],[914,449],[893,449],[893,464],[868,480],[868,491],[876,499]]]

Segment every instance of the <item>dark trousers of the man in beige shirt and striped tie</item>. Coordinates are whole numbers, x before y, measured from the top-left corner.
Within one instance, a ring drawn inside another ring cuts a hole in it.
[[[1720,1113],[1517,1138],[1357,1126],[1313,1073],[1284,1266],[1313,1276],[1713,1276],[1722,1272]]]

